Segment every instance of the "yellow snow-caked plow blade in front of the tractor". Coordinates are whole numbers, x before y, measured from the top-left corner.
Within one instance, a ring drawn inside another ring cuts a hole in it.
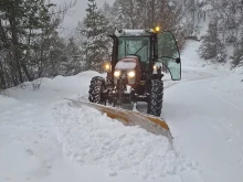
[[[109,118],[122,121],[125,126],[137,125],[155,135],[166,136],[169,141],[172,142],[172,136],[167,122],[159,117],[82,100],[67,100],[72,101],[77,107],[87,106],[95,108],[101,113],[105,113]]]

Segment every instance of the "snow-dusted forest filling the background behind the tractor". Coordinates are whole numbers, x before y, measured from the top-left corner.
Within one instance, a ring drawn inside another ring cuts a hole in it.
[[[107,34],[116,29],[159,25],[176,35],[181,50],[187,40],[200,41],[205,61],[243,65],[243,0],[115,0],[99,8],[87,0],[86,17],[63,38],[63,20],[74,6],[0,1],[0,89],[41,77],[102,72],[112,54]]]

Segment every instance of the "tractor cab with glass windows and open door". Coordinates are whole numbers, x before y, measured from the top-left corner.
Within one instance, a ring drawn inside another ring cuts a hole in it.
[[[180,54],[170,32],[160,33],[159,30],[120,30],[112,36],[114,39],[112,68],[124,58],[134,56],[139,61],[141,76],[146,78],[163,65],[173,81],[181,78]],[[113,72],[113,74],[114,74]]]

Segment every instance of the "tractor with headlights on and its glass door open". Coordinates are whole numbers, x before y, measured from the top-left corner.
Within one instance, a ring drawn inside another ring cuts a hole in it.
[[[181,79],[181,60],[173,34],[150,30],[116,30],[112,61],[105,65],[106,78],[91,81],[88,100],[122,107],[147,103],[147,114],[159,117],[163,101],[165,67],[172,81]]]

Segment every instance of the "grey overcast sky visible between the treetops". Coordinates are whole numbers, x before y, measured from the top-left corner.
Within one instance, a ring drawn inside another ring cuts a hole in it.
[[[54,3],[63,3],[75,1],[75,0],[51,0]],[[104,2],[113,3],[115,0],[96,0],[98,8],[103,6]],[[67,30],[72,30],[77,25],[77,22],[83,20],[85,17],[85,9],[87,8],[87,0],[77,0],[75,7],[72,9],[71,13],[66,15],[64,21],[64,26]]]

